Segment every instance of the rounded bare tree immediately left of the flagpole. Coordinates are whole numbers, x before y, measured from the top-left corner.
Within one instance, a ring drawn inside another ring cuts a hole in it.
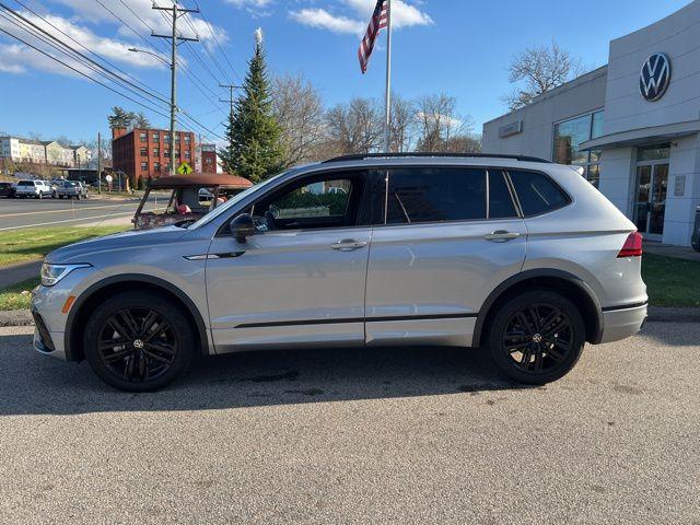
[[[375,100],[352,98],[326,113],[327,144],[332,154],[378,151],[384,136],[383,112]]]

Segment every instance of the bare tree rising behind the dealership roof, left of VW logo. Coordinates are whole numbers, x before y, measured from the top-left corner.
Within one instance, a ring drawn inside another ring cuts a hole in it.
[[[518,84],[503,97],[511,110],[523,107],[583,72],[579,58],[552,40],[551,46],[528,47],[511,60],[509,81]]]

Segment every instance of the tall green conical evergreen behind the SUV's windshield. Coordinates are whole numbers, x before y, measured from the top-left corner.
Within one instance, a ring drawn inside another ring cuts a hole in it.
[[[229,148],[221,154],[225,170],[253,183],[273,175],[283,164],[280,135],[272,116],[262,38],[256,33],[255,54],[248,62],[243,93],[229,116]]]

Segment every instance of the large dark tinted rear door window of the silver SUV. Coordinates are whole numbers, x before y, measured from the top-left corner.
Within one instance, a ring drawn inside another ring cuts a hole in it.
[[[483,170],[392,170],[388,189],[388,224],[486,219]]]

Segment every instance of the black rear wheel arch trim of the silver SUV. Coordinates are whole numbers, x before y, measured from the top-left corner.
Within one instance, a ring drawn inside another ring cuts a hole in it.
[[[586,341],[593,345],[603,337],[603,311],[588,284],[580,277],[555,268],[526,270],[499,284],[486,299],[474,329],[471,346],[479,347],[486,339],[493,313],[499,304],[517,293],[529,290],[550,290],[572,301],[581,312],[586,327]]]

